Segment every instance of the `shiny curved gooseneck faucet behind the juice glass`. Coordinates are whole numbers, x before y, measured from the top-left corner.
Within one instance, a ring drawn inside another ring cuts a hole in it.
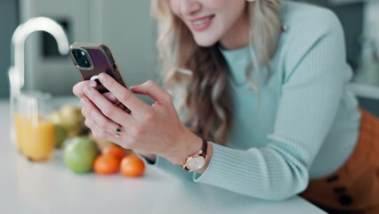
[[[17,29],[14,30],[12,35],[11,45],[11,67],[8,70],[10,81],[10,107],[11,107],[11,126],[13,126],[13,110],[15,106],[15,99],[21,93],[21,88],[25,82],[25,40],[29,34],[36,31],[44,31],[52,35],[58,44],[58,50],[60,54],[64,55],[69,53],[69,40],[66,36],[64,29],[59,23],[46,17],[31,18],[28,21],[20,24]],[[13,130],[14,128],[11,128]],[[14,142],[14,133],[12,134],[12,140]]]

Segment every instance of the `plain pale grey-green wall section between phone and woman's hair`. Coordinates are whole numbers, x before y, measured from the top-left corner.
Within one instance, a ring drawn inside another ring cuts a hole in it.
[[[157,30],[150,18],[149,1],[103,0],[101,17],[101,41],[112,49],[126,84],[154,78]]]

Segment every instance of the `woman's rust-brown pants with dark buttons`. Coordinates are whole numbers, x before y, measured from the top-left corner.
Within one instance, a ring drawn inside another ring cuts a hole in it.
[[[333,175],[311,180],[301,196],[329,213],[379,214],[379,119],[361,111],[359,142]]]

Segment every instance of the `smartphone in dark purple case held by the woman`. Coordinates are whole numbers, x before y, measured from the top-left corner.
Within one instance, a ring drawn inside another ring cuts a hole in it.
[[[118,70],[115,58],[107,45],[99,43],[74,43],[69,46],[69,56],[83,80],[96,81],[98,84],[97,90],[101,94],[109,92],[105,86],[102,86],[99,80],[99,74],[102,72],[107,73],[110,77],[116,79],[121,86],[127,88],[124,78],[121,76],[120,70]],[[120,105],[121,103],[117,102],[115,104]],[[130,112],[126,107],[125,111]]]

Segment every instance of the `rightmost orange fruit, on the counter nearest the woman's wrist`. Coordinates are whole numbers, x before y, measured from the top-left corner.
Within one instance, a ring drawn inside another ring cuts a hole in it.
[[[125,156],[120,165],[125,177],[141,177],[145,171],[145,163],[135,154]]]

